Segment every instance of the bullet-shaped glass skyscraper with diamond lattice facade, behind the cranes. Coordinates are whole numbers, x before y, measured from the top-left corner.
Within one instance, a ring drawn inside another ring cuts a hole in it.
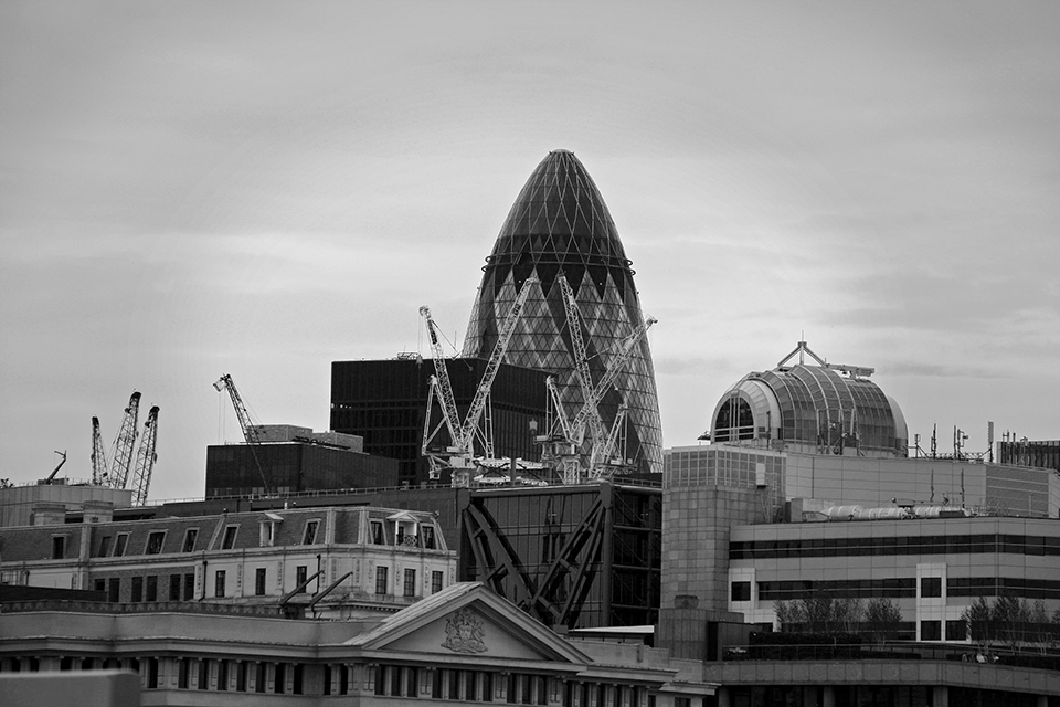
[[[486,258],[464,356],[490,355],[519,288],[537,276],[540,284],[530,285],[533,289],[508,345],[507,360],[554,374],[564,409],[573,416],[583,398],[556,276],[563,273],[575,294],[595,383],[622,340],[644,321],[632,264],[585,167],[568,150],[549,152],[519,192]],[[661,473],[662,430],[647,337],[600,405],[608,429],[623,403],[627,408],[624,458],[638,472]]]

